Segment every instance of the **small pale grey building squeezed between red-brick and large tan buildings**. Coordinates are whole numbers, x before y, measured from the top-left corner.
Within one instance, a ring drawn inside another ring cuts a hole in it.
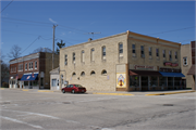
[[[59,67],[50,70],[50,90],[59,90]]]

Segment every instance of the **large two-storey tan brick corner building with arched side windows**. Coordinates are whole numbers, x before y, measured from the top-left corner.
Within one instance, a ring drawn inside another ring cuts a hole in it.
[[[183,89],[181,44],[132,31],[60,50],[64,81],[87,91]]]

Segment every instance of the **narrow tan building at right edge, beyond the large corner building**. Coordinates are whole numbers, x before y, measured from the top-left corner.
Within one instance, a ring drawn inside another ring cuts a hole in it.
[[[186,81],[186,88],[193,88],[194,78],[192,75],[187,75],[189,68],[192,67],[192,51],[191,51],[191,44],[182,44],[181,46],[181,68],[182,74],[185,75],[183,79]]]

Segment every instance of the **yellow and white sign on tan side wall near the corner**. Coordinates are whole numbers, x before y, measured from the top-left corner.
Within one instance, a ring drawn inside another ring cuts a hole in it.
[[[117,87],[118,88],[125,88],[126,87],[125,74],[117,74]]]

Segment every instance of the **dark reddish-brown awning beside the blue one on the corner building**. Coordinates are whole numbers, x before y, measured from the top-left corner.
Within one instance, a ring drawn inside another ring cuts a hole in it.
[[[130,76],[162,76],[156,70],[130,70]]]

